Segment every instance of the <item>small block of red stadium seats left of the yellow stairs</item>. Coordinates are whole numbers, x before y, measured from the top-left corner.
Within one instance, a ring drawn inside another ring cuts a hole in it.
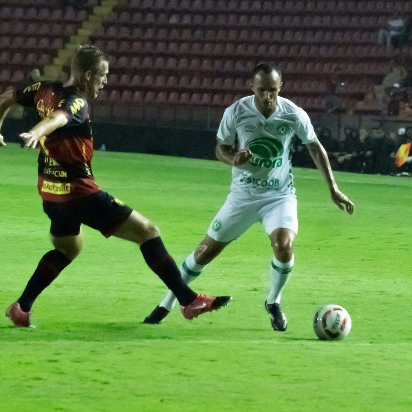
[[[97,0],[62,7],[57,0],[0,1],[0,90],[14,89],[33,66],[49,64]]]

